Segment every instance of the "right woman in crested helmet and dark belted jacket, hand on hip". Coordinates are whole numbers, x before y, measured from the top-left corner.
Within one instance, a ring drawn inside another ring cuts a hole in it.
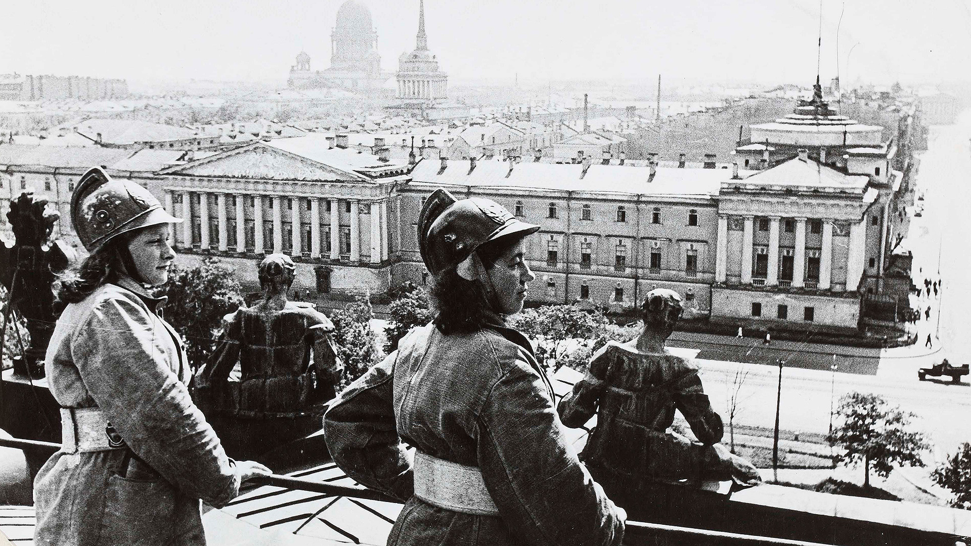
[[[324,416],[334,461],[405,501],[388,544],[622,540],[625,514],[577,459],[529,341],[504,320],[535,279],[525,238],[538,229],[493,201],[442,189],[421,210],[435,320]]]

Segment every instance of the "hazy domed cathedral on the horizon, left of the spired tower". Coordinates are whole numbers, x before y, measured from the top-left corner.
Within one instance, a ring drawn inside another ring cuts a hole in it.
[[[371,11],[358,0],[347,0],[337,10],[337,23],[330,34],[330,68],[312,71],[310,55],[300,51],[296,64],[290,67],[287,85],[371,91],[381,88],[390,77],[390,73],[381,71],[378,32]]]

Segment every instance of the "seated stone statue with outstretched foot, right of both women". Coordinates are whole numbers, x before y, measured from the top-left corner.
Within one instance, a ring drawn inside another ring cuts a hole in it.
[[[731,480],[736,488],[761,482],[751,462],[718,443],[721,418],[704,392],[697,366],[664,347],[682,311],[677,292],[651,290],[642,306],[641,334],[601,348],[585,378],[557,408],[566,427],[582,427],[597,415],[581,459],[607,495],[625,508],[624,499],[637,502],[637,492],[656,482],[702,487]],[[671,430],[675,410],[696,440]]]

